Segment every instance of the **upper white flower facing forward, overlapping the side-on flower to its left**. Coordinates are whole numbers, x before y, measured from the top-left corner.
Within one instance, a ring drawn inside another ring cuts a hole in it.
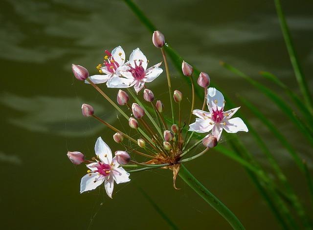
[[[146,56],[140,51],[139,48],[133,50],[129,62],[119,68],[120,77],[113,77],[108,82],[109,88],[128,88],[134,85],[136,93],[138,93],[146,82],[152,82],[162,72],[163,69],[158,66],[161,63],[147,69],[148,61]]]

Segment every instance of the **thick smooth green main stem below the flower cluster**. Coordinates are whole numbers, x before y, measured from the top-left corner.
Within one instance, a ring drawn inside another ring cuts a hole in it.
[[[232,213],[217,197],[205,188],[182,164],[180,165],[179,176],[190,186],[190,188],[194,189],[203,200],[219,212],[233,229],[245,229],[234,213]]]

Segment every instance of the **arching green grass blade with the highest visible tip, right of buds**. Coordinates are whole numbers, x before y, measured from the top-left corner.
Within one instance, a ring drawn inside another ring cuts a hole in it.
[[[262,93],[264,93],[271,101],[273,101],[294,123],[296,127],[304,134],[304,136],[309,140],[309,143],[313,146],[313,133],[311,133],[310,128],[304,125],[302,121],[295,115],[294,111],[291,109],[289,105],[275,92],[268,89],[268,87],[264,86],[263,84],[258,83],[257,81],[253,80],[251,77],[247,76],[240,70],[234,68],[233,66],[227,63],[221,63],[226,69],[230,70],[231,72],[235,73],[236,75],[244,78],[250,84],[255,86],[259,89]]]

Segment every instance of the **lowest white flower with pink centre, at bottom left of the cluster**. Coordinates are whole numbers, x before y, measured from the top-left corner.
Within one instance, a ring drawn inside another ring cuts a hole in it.
[[[100,161],[87,165],[90,173],[83,176],[80,183],[80,193],[97,188],[104,182],[104,188],[110,198],[116,184],[129,182],[129,173],[124,168],[119,167],[116,156],[112,159],[110,147],[98,137],[94,146],[94,151]]]

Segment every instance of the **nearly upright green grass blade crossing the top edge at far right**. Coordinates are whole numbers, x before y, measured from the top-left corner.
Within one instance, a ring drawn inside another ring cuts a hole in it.
[[[279,18],[280,27],[282,29],[282,33],[285,39],[285,43],[287,46],[287,50],[289,53],[290,61],[293,67],[296,80],[299,84],[301,93],[304,97],[304,100],[307,106],[310,108],[311,111],[313,111],[313,100],[310,95],[310,91],[308,88],[308,84],[306,83],[305,76],[301,69],[299,59],[297,58],[293,42],[291,40],[291,35],[290,35],[289,28],[288,28],[288,25],[287,25],[287,22],[286,22],[286,19],[285,19],[285,16],[284,16],[281,4],[280,4],[280,0],[275,0],[275,6],[276,6],[276,12]]]

